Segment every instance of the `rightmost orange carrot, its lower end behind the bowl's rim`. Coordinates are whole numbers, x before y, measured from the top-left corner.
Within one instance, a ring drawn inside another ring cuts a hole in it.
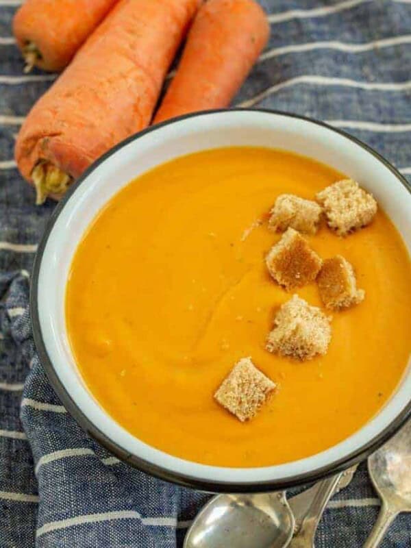
[[[227,107],[269,38],[253,0],[209,0],[188,34],[177,73],[154,123],[187,112]]]

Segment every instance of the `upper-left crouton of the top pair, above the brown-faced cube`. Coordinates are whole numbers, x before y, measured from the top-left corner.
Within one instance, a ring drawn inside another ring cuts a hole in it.
[[[292,194],[282,194],[275,200],[269,228],[277,232],[291,227],[305,234],[315,234],[319,228],[323,208],[318,203]]]

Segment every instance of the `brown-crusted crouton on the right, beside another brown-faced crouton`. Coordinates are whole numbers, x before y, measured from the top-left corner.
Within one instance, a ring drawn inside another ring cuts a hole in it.
[[[326,259],[317,277],[320,297],[325,308],[347,308],[364,300],[365,292],[357,289],[351,264],[340,255]]]

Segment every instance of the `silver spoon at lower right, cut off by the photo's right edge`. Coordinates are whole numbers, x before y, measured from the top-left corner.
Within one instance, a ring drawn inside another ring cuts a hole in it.
[[[411,421],[369,458],[369,474],[382,501],[364,548],[376,548],[401,512],[411,512]]]

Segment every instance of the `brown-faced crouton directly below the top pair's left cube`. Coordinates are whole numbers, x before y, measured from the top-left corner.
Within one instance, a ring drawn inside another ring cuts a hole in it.
[[[293,228],[284,232],[266,256],[269,273],[287,290],[313,282],[323,261]]]

